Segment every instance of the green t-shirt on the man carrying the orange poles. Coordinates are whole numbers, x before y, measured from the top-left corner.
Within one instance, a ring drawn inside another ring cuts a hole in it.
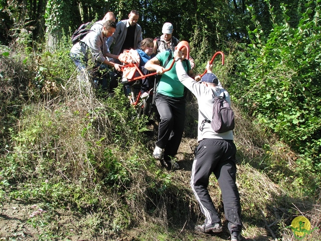
[[[164,65],[169,55],[170,55],[170,51],[163,51],[156,55],[156,58],[161,63],[161,66]],[[167,66],[163,66],[163,67],[168,69],[171,66],[173,61],[174,61],[174,58],[170,60]],[[181,83],[181,81],[177,77],[175,65],[176,63],[174,63],[173,68],[171,70],[165,72],[162,75],[161,80],[159,81],[157,86],[157,93],[161,93],[170,97],[183,97],[184,85]],[[187,65],[189,65],[189,68]],[[191,69],[190,61],[189,60],[183,61],[183,66],[185,71],[187,71],[188,69]]]

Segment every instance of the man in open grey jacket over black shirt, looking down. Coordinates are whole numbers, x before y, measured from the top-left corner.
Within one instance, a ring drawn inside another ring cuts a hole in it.
[[[119,21],[116,26],[114,35],[107,40],[107,45],[110,48],[112,43],[112,53],[119,55],[124,49],[138,49],[142,41],[141,27],[137,24],[139,13],[132,10],[128,15],[128,19]],[[115,59],[115,61],[118,61]]]

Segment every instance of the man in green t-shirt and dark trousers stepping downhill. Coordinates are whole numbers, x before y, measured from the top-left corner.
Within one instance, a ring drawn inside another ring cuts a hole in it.
[[[182,41],[177,45],[176,49],[186,45],[188,45],[188,42]],[[189,70],[189,76],[194,78],[195,74],[191,69],[190,62],[185,60],[188,49],[183,47],[181,51],[183,52],[182,60],[184,60],[183,66],[185,71]],[[184,85],[177,77],[175,63],[171,70],[164,72],[175,61],[172,57],[167,66],[163,66],[170,54],[172,54],[170,51],[157,54],[145,64],[145,69],[156,71],[158,75],[162,75],[155,95],[155,103],[161,117],[161,122],[158,125],[158,140],[155,143],[153,157],[157,160],[164,158],[169,168],[178,169],[179,165],[172,162],[172,158],[177,154],[183,137],[186,101]]]

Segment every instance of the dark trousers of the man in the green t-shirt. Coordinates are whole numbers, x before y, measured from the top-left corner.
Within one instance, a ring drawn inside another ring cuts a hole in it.
[[[165,148],[164,160],[169,161],[179,150],[185,123],[185,98],[156,93],[155,103],[161,122],[158,125],[157,147]]]

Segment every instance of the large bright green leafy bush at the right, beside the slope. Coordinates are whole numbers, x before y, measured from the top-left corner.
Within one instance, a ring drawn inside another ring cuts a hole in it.
[[[288,16],[285,5],[281,5],[283,20],[276,23],[271,8],[273,30],[268,36],[253,9],[248,10],[255,29],[248,30],[251,44],[238,57],[236,95],[260,123],[300,155],[298,171],[320,173],[319,1],[301,6],[297,24],[293,24],[294,17]],[[320,182],[317,179],[316,183]]]

